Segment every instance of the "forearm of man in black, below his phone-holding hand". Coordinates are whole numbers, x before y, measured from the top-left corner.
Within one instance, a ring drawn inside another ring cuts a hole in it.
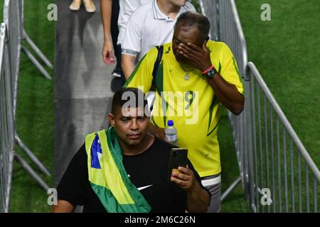
[[[210,196],[197,182],[195,189],[187,192],[187,210],[190,213],[204,213],[208,209]]]

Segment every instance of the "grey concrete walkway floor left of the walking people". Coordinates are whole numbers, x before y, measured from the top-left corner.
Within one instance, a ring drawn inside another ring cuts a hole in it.
[[[121,86],[102,62],[103,29],[97,11],[70,11],[71,1],[56,0],[55,26],[55,185],[85,135],[108,126],[113,92]]]

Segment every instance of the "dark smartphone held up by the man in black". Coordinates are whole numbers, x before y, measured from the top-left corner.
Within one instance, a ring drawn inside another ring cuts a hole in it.
[[[178,171],[178,167],[186,167],[188,165],[188,149],[172,148],[169,159],[168,179],[171,181],[172,170]]]

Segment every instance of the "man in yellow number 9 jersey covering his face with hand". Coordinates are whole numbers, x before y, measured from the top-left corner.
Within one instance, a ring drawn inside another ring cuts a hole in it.
[[[209,29],[206,16],[182,13],[172,43],[163,45],[161,62],[155,63],[161,48],[152,48],[125,86],[139,87],[145,93],[155,87],[151,133],[165,139],[166,123],[174,121],[178,146],[188,148],[188,157],[203,186],[212,194],[208,212],[218,212],[221,167],[217,131],[221,104],[238,115],[245,97],[233,53],[225,43],[208,40]]]

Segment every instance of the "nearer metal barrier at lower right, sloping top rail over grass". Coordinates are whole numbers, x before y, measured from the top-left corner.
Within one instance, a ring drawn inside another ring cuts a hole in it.
[[[246,145],[250,208],[254,212],[316,213],[320,171],[252,62],[246,76],[250,83],[246,108],[251,113],[247,113]],[[266,192],[269,198],[263,197]]]

